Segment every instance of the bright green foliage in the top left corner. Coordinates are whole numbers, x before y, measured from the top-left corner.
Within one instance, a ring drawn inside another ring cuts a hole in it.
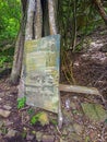
[[[0,39],[14,38],[20,28],[20,0],[0,1]]]

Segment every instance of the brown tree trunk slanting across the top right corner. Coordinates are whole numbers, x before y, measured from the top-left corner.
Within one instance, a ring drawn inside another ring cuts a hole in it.
[[[107,13],[103,7],[102,0],[94,0],[95,5],[97,7],[97,10],[103,17],[105,24],[107,25]]]

